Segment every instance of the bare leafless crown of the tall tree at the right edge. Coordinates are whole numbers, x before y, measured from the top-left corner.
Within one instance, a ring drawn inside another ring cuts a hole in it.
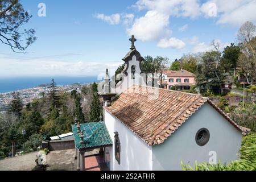
[[[237,33],[237,39],[240,43],[249,43],[254,36],[255,24],[249,21],[243,23]]]

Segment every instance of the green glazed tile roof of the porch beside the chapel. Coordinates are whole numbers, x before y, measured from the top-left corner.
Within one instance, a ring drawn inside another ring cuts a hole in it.
[[[80,144],[80,137],[77,134],[76,125],[71,125],[76,148],[90,148],[90,147],[100,147],[113,144],[110,138],[108,129],[104,122],[91,122],[91,123],[81,123],[80,130],[84,135],[84,144]]]

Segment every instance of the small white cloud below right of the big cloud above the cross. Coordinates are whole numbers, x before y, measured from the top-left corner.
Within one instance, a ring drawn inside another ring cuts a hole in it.
[[[171,48],[175,48],[175,49],[181,49],[181,48],[185,47],[185,43],[180,39],[170,38],[170,39],[161,39],[158,42],[157,46],[161,47],[161,48],[171,47]]]

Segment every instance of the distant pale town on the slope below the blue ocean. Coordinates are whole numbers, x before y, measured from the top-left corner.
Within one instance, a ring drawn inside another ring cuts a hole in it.
[[[57,88],[59,89],[60,92],[71,92],[72,90],[77,90],[77,92],[80,93],[81,88],[84,85],[89,85],[89,83],[57,85]],[[19,92],[19,95],[20,95],[20,98],[22,99],[23,104],[26,105],[36,98],[42,98],[44,94],[49,93],[49,90],[51,90],[51,88],[49,88],[48,84],[42,84],[42,85],[38,85],[31,88],[16,90],[14,92]],[[0,113],[6,111],[9,108],[9,104],[11,103],[12,99],[13,99],[13,92],[0,93]]]

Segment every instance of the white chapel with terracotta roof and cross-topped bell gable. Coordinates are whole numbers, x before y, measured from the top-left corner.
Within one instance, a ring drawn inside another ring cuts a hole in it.
[[[134,84],[131,66],[140,75],[143,61],[134,42],[127,57],[123,73],[133,84],[104,107],[113,140],[105,149],[110,170],[181,170],[181,160],[194,165],[238,159],[242,127],[199,94]]]

